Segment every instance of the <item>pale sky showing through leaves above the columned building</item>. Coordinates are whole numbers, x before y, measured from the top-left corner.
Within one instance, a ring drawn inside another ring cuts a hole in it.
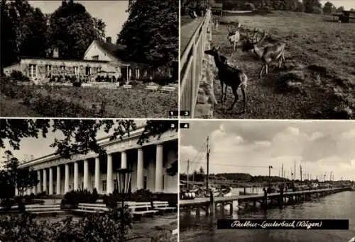
[[[146,120],[136,120],[136,125],[141,126],[146,124]],[[102,137],[107,137],[109,134],[104,132],[103,129],[100,129],[97,132],[97,139]],[[38,135],[38,139],[36,138],[23,138],[20,142],[20,150],[13,150],[9,145],[9,140],[5,140],[5,149],[0,149],[0,157],[4,157],[4,151],[7,149],[11,150],[13,156],[17,159],[27,159],[29,156],[33,156],[34,158],[39,158],[41,156],[46,156],[48,154],[53,154],[55,149],[50,147],[50,144],[53,144],[54,139],[62,139],[64,136],[62,132],[56,131],[52,132],[52,129],[48,130],[48,134],[46,138],[43,138],[41,134]],[[0,159],[0,166],[1,166]]]

